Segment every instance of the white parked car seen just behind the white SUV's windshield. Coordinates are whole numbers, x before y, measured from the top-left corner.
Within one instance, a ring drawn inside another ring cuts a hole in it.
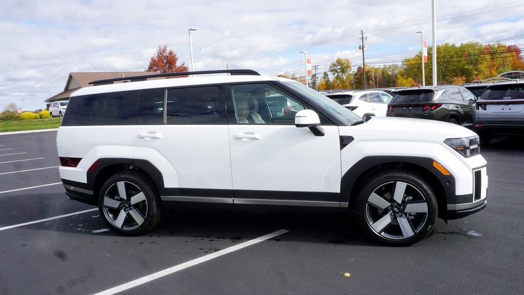
[[[361,118],[366,116],[386,117],[388,102],[393,98],[384,91],[355,90],[326,95]]]

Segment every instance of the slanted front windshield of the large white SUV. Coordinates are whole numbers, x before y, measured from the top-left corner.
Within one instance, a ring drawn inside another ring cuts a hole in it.
[[[316,102],[321,108],[323,108],[324,111],[329,112],[334,117],[336,117],[337,120],[343,122],[346,125],[351,125],[355,122],[362,121],[362,118],[359,115],[356,115],[354,112],[341,106],[341,104],[336,103],[330,98],[324,96],[322,93],[319,93],[318,91],[315,91],[303,85],[302,83],[297,81],[286,81],[283,83],[307,96],[309,99]]]

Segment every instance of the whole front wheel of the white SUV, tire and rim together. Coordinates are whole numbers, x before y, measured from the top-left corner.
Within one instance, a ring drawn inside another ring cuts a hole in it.
[[[386,244],[409,245],[434,229],[433,189],[419,175],[392,169],[369,177],[358,194],[356,217],[365,233]]]

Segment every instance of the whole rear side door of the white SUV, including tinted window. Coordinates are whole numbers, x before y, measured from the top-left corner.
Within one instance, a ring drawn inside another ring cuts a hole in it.
[[[162,172],[162,199],[232,207],[223,87],[143,90],[138,108],[134,158],[149,160]],[[167,123],[159,124],[164,114]]]

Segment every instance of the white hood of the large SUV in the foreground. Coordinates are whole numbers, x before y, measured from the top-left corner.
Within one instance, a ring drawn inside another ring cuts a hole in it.
[[[341,135],[357,139],[385,141],[439,142],[449,138],[464,138],[476,135],[460,125],[441,121],[411,118],[372,117],[366,123],[340,127]]]

